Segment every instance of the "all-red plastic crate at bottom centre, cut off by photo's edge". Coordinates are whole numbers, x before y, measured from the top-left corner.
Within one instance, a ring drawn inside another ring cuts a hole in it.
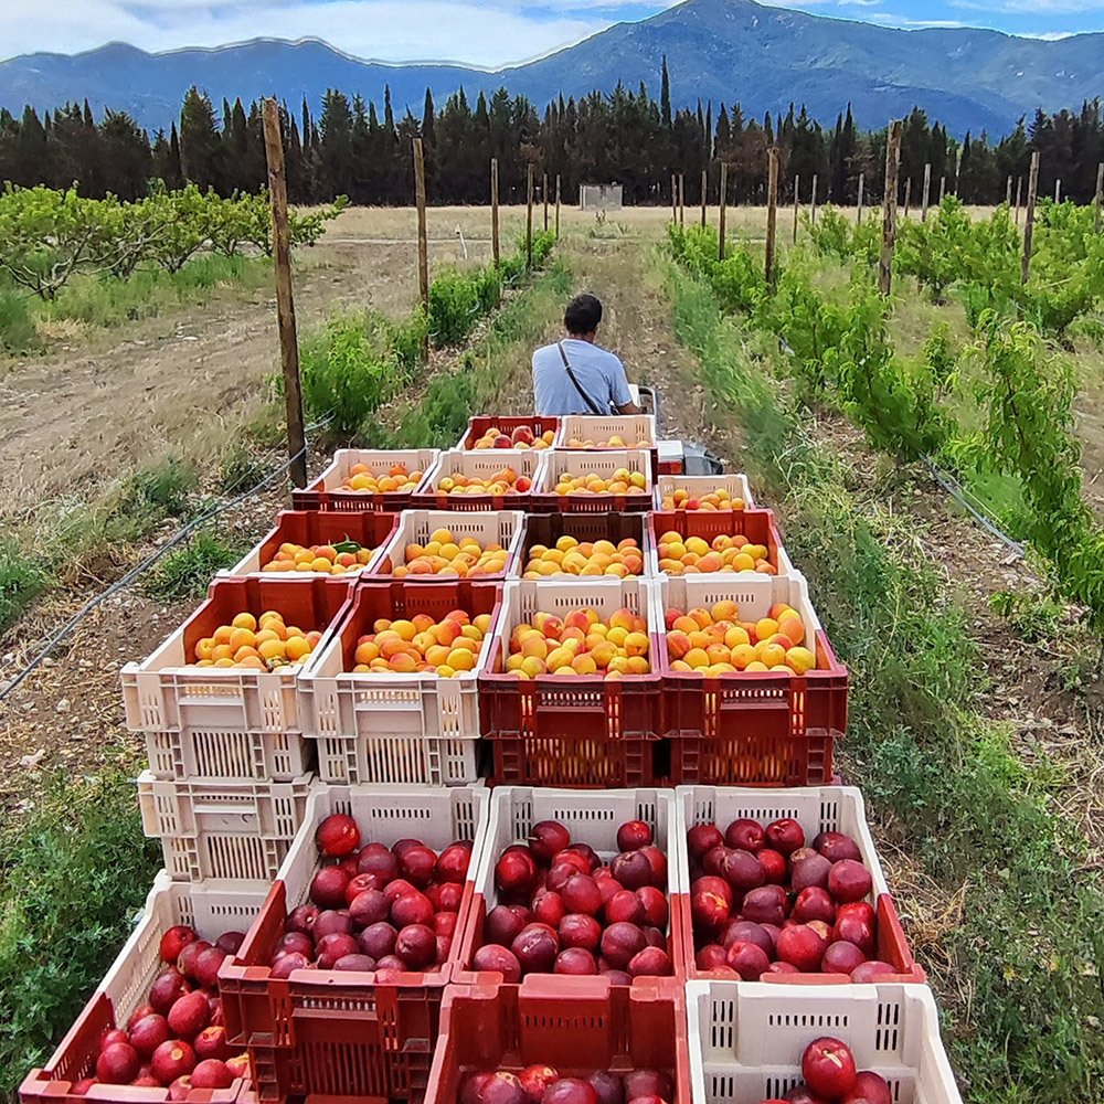
[[[542,975],[521,985],[453,985],[425,1101],[456,1104],[465,1073],[541,1063],[563,1076],[659,1069],[675,1081],[670,1104],[690,1104],[687,1038],[686,997],[669,978],[631,988]]]

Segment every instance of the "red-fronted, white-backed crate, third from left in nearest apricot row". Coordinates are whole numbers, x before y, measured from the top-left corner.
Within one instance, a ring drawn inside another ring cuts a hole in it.
[[[659,740],[661,679],[655,652],[654,584],[638,578],[580,577],[506,584],[502,614],[479,676],[479,718],[493,751],[495,785],[650,786],[669,764]],[[594,609],[604,620],[625,607],[648,618],[649,675],[542,675],[506,671],[513,629],[538,613],[563,617]]]

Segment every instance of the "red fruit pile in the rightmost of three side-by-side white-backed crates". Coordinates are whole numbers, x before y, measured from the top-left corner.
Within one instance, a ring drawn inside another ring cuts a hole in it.
[[[872,981],[893,974],[874,958],[878,916],[866,901],[873,880],[859,846],[821,832],[805,846],[792,818],[764,829],[733,820],[687,832],[690,912],[698,969],[763,974],[847,974]]]

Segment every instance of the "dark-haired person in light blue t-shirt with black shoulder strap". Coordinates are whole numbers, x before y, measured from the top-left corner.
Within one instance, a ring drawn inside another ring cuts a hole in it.
[[[593,295],[577,295],[563,316],[567,336],[533,353],[538,414],[643,413],[629,393],[625,365],[595,344],[601,321],[602,304]]]

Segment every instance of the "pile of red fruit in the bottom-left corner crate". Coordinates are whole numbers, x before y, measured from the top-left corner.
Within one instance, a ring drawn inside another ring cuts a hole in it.
[[[76,1082],[73,1095],[102,1083],[168,1089],[170,1101],[182,1101],[193,1089],[230,1089],[248,1076],[248,1055],[235,1055],[226,1041],[219,996],[219,967],[244,938],[227,932],[212,945],[190,927],[170,927],[160,948],[167,965],[148,1002],[134,1010],[125,1031],[104,1032],[96,1075]]]

